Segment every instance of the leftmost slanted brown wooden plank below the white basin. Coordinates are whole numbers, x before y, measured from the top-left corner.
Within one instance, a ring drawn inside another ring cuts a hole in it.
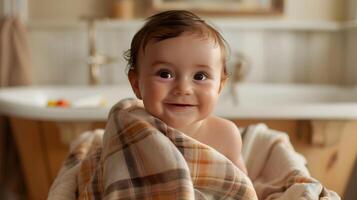
[[[40,124],[20,118],[11,118],[10,122],[29,197],[32,200],[46,199],[50,176]]]

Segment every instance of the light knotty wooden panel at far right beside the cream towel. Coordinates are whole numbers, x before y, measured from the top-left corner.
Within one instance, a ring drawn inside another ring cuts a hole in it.
[[[357,122],[350,122],[339,133],[338,143],[330,146],[310,145],[290,135],[295,149],[308,161],[308,168],[313,177],[336,191],[341,197],[347,188],[357,157]]]

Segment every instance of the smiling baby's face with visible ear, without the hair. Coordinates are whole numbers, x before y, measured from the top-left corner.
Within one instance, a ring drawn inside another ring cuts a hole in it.
[[[149,42],[139,53],[138,73],[129,74],[145,109],[174,128],[209,116],[219,97],[221,49],[193,34]]]

